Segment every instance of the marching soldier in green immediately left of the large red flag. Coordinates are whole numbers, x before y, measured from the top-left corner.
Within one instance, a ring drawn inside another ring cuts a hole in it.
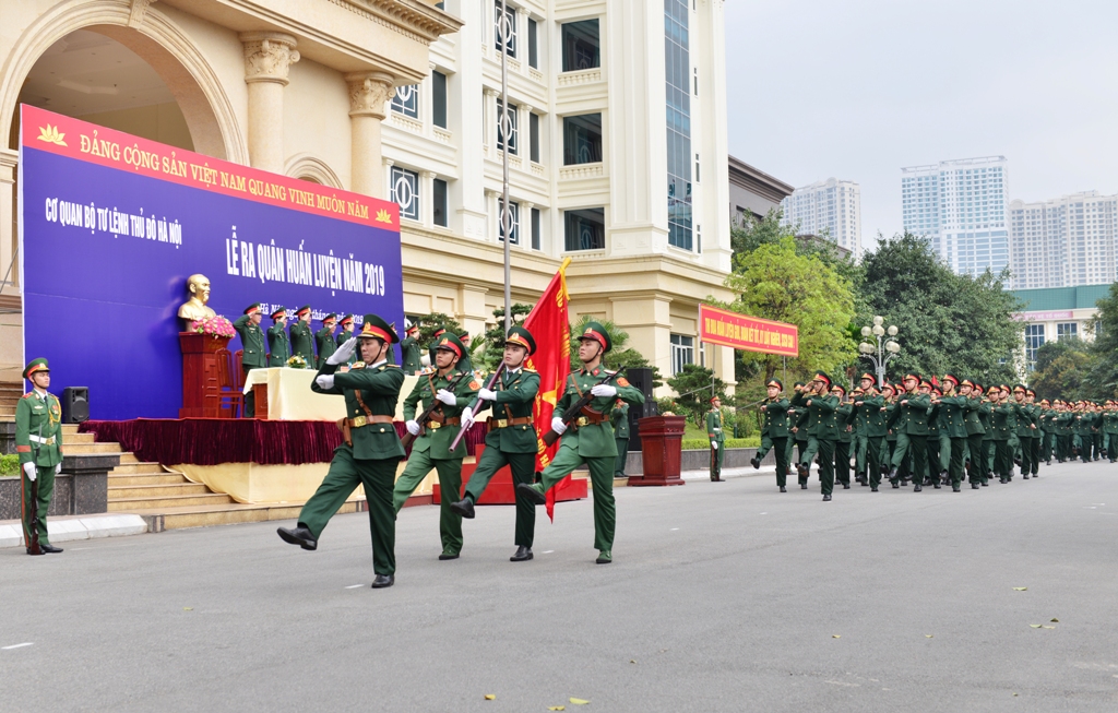
[[[532,409],[540,392],[540,374],[524,365],[536,353],[536,339],[522,326],[513,326],[504,338],[504,372],[492,390],[477,392],[480,402],[476,412],[490,405],[493,418],[485,435],[485,450],[470,476],[465,496],[451,505],[451,510],[463,517],[473,519],[474,504],[493,475],[509,466],[513,486],[530,484],[536,476],[536,426]],[[626,408],[628,405],[626,403]],[[462,413],[462,425],[473,422],[475,415],[468,409]],[[619,455],[619,454],[618,454]],[[532,541],[536,538],[536,504],[527,493],[517,488],[517,553],[509,558],[512,562],[532,559]]]

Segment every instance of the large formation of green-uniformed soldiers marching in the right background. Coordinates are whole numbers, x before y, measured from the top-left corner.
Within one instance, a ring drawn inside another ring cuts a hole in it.
[[[750,464],[760,468],[771,450],[781,493],[793,464],[806,489],[813,462],[823,500],[830,501],[836,482],[850,489],[852,468],[853,479],[873,493],[883,479],[894,488],[911,482],[917,493],[950,484],[958,493],[964,479],[976,491],[995,478],[1010,483],[1017,467],[1023,479],[1039,477],[1041,462],[1051,465],[1053,458],[1118,459],[1114,400],[1038,402],[1024,384],[984,388],[950,373],[931,380],[909,373],[900,384],[880,388],[873,374],[863,373],[859,387],[846,393],[818,372],[806,384],[796,383],[790,399],[779,379],[767,389],[761,445]]]

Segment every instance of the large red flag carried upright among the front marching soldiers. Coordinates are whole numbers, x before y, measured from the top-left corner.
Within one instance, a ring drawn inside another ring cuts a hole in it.
[[[558,440],[548,448],[539,434],[551,430],[551,415],[555,412],[556,401],[566,389],[567,374],[570,373],[570,322],[567,320],[567,304],[570,302],[570,295],[567,294],[568,265],[570,265],[569,257],[562,262],[559,272],[551,278],[551,284],[543,291],[540,301],[524,320],[524,329],[536,339],[536,353],[528,358],[528,368],[540,374],[540,392],[536,396],[533,410],[538,447],[537,472],[548,467],[559,450]],[[552,520],[555,520],[555,491],[561,486],[560,482],[547,493],[548,517]]]

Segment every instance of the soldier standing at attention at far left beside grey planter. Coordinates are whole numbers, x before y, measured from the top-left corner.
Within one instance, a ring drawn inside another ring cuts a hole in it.
[[[23,369],[31,390],[16,403],[16,455],[19,456],[23,544],[28,554],[58,554],[61,548],[50,544],[47,511],[55,492],[55,476],[63,469],[63,408],[50,388],[50,365],[35,359]],[[32,483],[38,483],[31,502]],[[34,506],[32,506],[34,505]],[[39,551],[31,549],[31,511],[38,515]]]

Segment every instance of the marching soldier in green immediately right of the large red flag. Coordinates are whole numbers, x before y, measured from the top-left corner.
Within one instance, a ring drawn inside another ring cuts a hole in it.
[[[542,505],[544,494],[575,468],[586,464],[590,470],[594,491],[594,546],[598,550],[598,564],[613,562],[614,525],[614,463],[617,458],[617,441],[614,427],[609,425],[609,411],[617,399],[631,406],[644,403],[644,393],[629,386],[623,377],[610,379],[612,383],[599,383],[610,372],[601,365],[601,358],[613,346],[609,333],[597,322],[587,322],[578,336],[578,359],[582,368],[567,378],[567,388],[556,403],[556,416],[551,419],[551,430],[562,436],[559,451],[543,473],[540,483],[521,483],[518,492],[527,494],[532,502]],[[584,409],[585,416],[568,426],[559,416],[582,398],[587,391],[594,397]],[[569,428],[569,430],[568,430]]]

